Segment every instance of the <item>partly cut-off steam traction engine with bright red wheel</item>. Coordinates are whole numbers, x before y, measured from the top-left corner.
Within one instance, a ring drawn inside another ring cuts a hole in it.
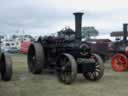
[[[128,69],[127,25],[128,24],[123,24],[123,32],[111,33],[111,36],[123,36],[123,40],[117,40],[111,46],[111,52],[113,54],[111,65],[112,68],[117,72]]]

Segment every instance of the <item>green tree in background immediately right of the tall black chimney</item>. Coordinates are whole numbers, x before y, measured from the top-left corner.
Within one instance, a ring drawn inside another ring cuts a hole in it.
[[[82,27],[82,38],[90,39],[92,36],[95,37],[98,35],[99,32],[93,26]]]

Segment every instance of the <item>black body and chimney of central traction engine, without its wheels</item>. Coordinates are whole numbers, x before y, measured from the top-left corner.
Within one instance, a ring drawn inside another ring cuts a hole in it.
[[[38,43],[41,43],[46,59],[46,67],[56,67],[56,62],[61,54],[71,54],[77,64],[78,72],[95,71],[95,62],[87,61],[91,58],[91,48],[87,42],[81,41],[81,21],[83,13],[74,13],[76,31],[67,28],[58,32],[57,36],[40,37]],[[79,63],[79,59],[86,59],[87,62]]]

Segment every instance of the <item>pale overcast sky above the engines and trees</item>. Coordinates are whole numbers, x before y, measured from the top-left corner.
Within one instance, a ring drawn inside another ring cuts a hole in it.
[[[0,0],[0,32],[50,34],[70,26],[73,12],[84,12],[83,26],[102,35],[122,30],[128,22],[128,0]]]

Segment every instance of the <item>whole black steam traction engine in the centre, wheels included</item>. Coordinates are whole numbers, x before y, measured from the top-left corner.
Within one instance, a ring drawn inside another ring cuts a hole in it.
[[[91,53],[90,46],[81,41],[81,21],[83,13],[74,13],[75,32],[71,29],[58,32],[58,36],[40,37],[30,45],[28,68],[33,74],[44,69],[56,70],[58,79],[71,84],[77,73],[91,81],[101,79],[104,73],[102,59]]]

